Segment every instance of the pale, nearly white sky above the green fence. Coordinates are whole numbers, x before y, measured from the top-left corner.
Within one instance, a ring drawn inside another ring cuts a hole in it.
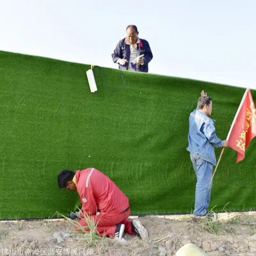
[[[149,73],[256,90],[255,0],[0,0],[0,50],[118,68],[111,54],[138,27]]]

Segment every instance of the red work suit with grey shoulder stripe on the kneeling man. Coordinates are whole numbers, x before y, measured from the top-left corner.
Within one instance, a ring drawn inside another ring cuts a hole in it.
[[[75,177],[77,193],[82,203],[81,211],[87,212],[97,224],[100,236],[114,237],[116,225],[119,223],[125,225],[124,232],[135,234],[132,221],[127,220],[130,215],[129,199],[108,176],[95,168],[87,168],[77,170]],[[83,217],[82,214],[80,216]],[[78,223],[82,226],[88,225],[84,218]],[[79,229],[76,227],[76,230]]]

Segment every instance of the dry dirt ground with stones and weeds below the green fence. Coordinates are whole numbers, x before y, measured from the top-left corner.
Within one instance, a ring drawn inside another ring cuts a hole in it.
[[[218,221],[194,220],[189,215],[140,220],[149,239],[124,234],[126,244],[76,233],[67,220],[0,222],[0,255],[164,256],[175,255],[188,243],[208,255],[256,255],[256,212],[218,214]]]

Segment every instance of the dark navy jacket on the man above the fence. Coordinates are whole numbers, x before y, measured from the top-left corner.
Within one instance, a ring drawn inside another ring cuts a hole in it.
[[[120,58],[120,59],[126,59],[130,60],[130,45],[125,44],[125,38],[120,40],[116,46],[116,49],[114,50],[114,53],[112,53],[112,59],[114,63]],[[140,56],[141,54],[144,54],[143,60],[144,64],[139,65],[140,72],[148,72],[148,63],[152,60],[153,54],[150,49],[150,45],[148,42],[144,39],[140,39],[139,44],[137,44],[137,56]],[[119,69],[127,70],[128,69],[129,62],[125,63],[125,65],[119,65]]]

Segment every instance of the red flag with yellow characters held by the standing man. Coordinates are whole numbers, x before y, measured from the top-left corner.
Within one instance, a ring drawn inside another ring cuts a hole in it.
[[[255,136],[256,110],[251,92],[247,89],[227,136],[228,146],[238,152],[237,163],[244,159],[245,149]]]

